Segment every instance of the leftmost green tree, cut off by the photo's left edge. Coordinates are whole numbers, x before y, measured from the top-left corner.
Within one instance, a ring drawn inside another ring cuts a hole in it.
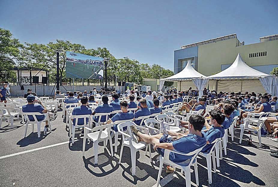
[[[24,47],[12,36],[9,30],[0,28],[0,80],[8,82],[16,79],[16,74],[10,68],[22,60],[20,51]]]

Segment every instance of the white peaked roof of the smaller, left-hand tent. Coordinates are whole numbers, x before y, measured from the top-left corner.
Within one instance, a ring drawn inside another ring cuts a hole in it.
[[[190,61],[187,62],[186,67],[180,73],[173,75],[171,77],[167,77],[163,80],[171,80],[171,81],[185,81],[191,80],[192,78],[205,78],[206,76],[202,75],[198,71],[196,71],[192,66]]]

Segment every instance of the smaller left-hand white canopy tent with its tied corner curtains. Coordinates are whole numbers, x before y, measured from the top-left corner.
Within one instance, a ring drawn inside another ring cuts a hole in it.
[[[209,79],[196,71],[192,66],[190,61],[187,62],[186,67],[180,72],[171,77],[165,79],[160,79],[159,90],[162,90],[165,81],[190,81],[192,80],[199,90],[199,98],[203,95],[203,90],[207,85]]]

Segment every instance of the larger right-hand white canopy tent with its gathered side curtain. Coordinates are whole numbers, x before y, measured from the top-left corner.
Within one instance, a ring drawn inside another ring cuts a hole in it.
[[[207,79],[216,80],[217,83],[220,80],[250,80],[248,83],[252,84],[252,80],[260,80],[261,84],[263,85],[265,91],[267,93],[272,94],[273,96],[278,95],[278,79],[275,75],[268,75],[266,73],[262,73],[258,70],[249,67],[245,62],[242,60],[240,54],[238,53],[237,58],[235,59],[234,63],[228,67],[227,69],[221,71],[212,76],[208,76]],[[217,91],[217,83],[216,83],[216,91]],[[257,82],[258,83],[258,82]],[[224,86],[230,86],[231,82]],[[238,83],[237,83],[238,85]],[[255,85],[254,85],[255,86]],[[242,81],[241,81],[242,87]],[[241,88],[242,89],[242,88]]]

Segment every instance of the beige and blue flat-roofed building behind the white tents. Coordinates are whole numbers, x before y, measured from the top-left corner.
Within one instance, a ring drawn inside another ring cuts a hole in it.
[[[195,70],[210,76],[228,68],[240,53],[248,66],[269,74],[278,67],[278,34],[259,39],[259,43],[244,45],[237,34],[230,34],[181,46],[174,51],[174,73],[183,70],[190,60]]]

